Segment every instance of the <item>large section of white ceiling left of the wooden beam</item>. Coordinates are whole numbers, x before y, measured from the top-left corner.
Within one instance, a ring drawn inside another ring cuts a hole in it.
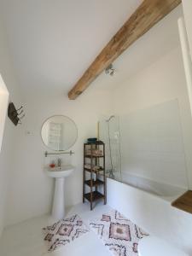
[[[142,0],[0,0],[20,86],[65,92]]]

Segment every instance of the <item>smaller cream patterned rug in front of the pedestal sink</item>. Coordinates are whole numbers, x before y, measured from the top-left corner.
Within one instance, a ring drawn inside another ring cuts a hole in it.
[[[82,236],[89,230],[76,214],[70,218],[61,219],[57,223],[44,228],[43,231],[48,252],[53,252],[55,249],[65,246],[67,243]]]

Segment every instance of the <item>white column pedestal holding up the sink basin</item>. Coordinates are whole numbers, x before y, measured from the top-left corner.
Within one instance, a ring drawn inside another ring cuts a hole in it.
[[[52,218],[59,220],[65,217],[65,196],[64,196],[64,177],[55,177],[55,193],[52,208]]]

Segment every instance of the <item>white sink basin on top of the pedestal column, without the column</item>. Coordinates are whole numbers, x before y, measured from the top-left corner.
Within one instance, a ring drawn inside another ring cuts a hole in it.
[[[55,168],[48,167],[45,171],[49,177],[68,177],[74,171],[74,167],[70,165]]]

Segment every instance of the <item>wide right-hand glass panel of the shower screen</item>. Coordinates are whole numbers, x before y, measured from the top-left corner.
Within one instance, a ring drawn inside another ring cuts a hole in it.
[[[188,189],[177,100],[121,115],[121,171]]]

